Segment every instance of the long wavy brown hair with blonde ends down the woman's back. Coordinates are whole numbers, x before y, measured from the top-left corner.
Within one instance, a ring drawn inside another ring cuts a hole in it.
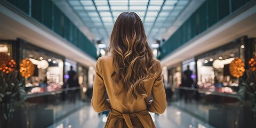
[[[119,101],[127,104],[147,97],[144,84],[156,76],[156,60],[147,42],[143,23],[136,13],[123,12],[119,15],[108,50],[113,56],[114,66],[110,77],[115,82],[113,88]],[[124,92],[124,97],[119,97],[121,92]]]

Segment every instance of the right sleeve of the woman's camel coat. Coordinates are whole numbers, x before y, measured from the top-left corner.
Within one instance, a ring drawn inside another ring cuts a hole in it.
[[[151,92],[153,101],[150,101],[148,103],[148,111],[152,113],[163,114],[167,106],[167,102],[164,90],[162,67],[160,62],[158,62],[157,67],[157,77],[155,79],[153,89]]]

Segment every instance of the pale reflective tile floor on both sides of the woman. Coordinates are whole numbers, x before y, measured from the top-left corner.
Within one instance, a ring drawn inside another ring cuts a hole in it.
[[[183,112],[182,110],[173,106],[168,106],[164,114],[155,115],[151,114],[155,121],[156,127],[174,127],[174,128],[211,128],[209,124],[206,124],[199,119]],[[93,111],[90,105],[85,105],[83,108],[70,114],[68,117],[63,118],[61,121],[54,123],[48,128],[102,128],[104,127],[107,117],[103,114],[97,114]]]

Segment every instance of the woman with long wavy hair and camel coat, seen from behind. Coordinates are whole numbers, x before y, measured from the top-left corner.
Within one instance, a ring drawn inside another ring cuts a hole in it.
[[[162,114],[167,105],[162,67],[154,59],[136,13],[119,15],[109,52],[95,67],[93,109],[98,113],[110,110],[105,127],[155,127],[148,111]]]

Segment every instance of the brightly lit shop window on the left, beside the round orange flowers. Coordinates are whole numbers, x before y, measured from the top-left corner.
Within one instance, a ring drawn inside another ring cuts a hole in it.
[[[25,77],[25,86],[28,93],[41,93],[62,89],[63,60],[55,55],[30,49],[23,49],[22,58],[23,60],[31,61],[33,63],[32,66],[34,66],[33,75]]]

